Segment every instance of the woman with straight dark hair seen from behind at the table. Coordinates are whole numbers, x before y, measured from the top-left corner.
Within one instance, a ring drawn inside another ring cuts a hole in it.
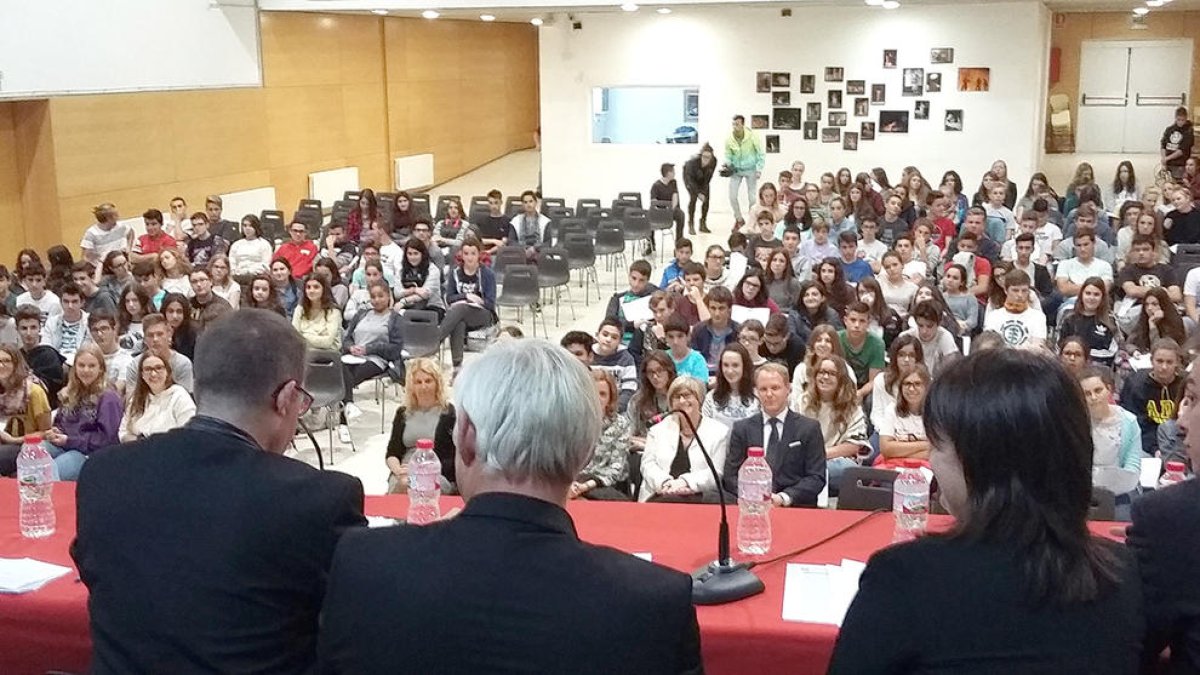
[[[1130,554],[1087,530],[1075,380],[1026,350],[971,354],[932,383],[923,419],[954,524],[871,556],[829,673],[1136,673],[1141,589]]]

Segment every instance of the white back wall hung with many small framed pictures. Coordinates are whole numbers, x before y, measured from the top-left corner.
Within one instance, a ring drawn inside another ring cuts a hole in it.
[[[841,144],[803,141],[800,131],[779,133],[781,154],[767,155],[764,178],[774,181],[792,160],[808,165],[806,180],[848,166],[868,171],[882,166],[894,179],[914,165],[932,180],[954,168],[968,189],[996,159],[1024,184],[1042,154],[1050,14],[1036,1],[986,5],[936,5],[886,11],[870,7],[812,7],[780,18],[778,8],[680,8],[668,16],[648,10],[636,14],[576,14],[582,30],[558,20],[540,32],[541,147],[544,193],[575,199],[611,199],[624,190],[648,192],[665,161],[682,163],[697,145],[618,145],[590,143],[593,86],[630,84],[696,84],[700,86],[700,137],[721,154],[730,119],[740,113],[770,114],[770,94],[755,91],[756,71],[792,73],[792,107],[822,102],[826,91],[845,83],[823,82],[824,66],[842,66],[846,79],[887,85],[881,109],[913,109],[917,97],[901,96],[905,67],[942,72],[942,91],[920,98],[931,102],[928,121],[910,115],[910,133],[877,135],[860,142],[857,153]],[[954,64],[931,65],[932,47],[953,47]],[[882,50],[899,49],[894,70],[882,67]],[[991,68],[989,92],[959,92],[958,67]],[[816,92],[799,94],[799,76],[817,77]],[[846,131],[858,131],[854,96],[845,96]],[[943,131],[943,112],[961,108],[965,131]],[[808,119],[808,118],[805,118]],[[826,126],[824,121],[821,124]],[[682,183],[682,181],[680,181]],[[682,187],[682,185],[680,185]],[[713,180],[714,209],[728,209],[726,181]]]

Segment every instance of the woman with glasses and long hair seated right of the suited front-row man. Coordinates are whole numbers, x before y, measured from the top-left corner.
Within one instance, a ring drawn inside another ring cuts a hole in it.
[[[856,390],[854,378],[846,372],[845,359],[830,353],[817,360],[800,399],[799,413],[821,424],[830,495],[835,494],[842,472],[858,466],[859,453],[870,449],[866,418]]]

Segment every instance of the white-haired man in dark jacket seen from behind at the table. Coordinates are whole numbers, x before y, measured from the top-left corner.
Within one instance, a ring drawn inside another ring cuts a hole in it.
[[[565,510],[600,435],[587,369],[498,344],[455,383],[467,506],[349,532],[322,610],[323,673],[701,673],[691,579],[578,539]]]

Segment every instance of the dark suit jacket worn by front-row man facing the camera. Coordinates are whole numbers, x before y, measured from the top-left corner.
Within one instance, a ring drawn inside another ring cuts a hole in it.
[[[766,448],[762,425],[762,413],[733,423],[721,484],[734,496],[738,494],[738,470],[746,459],[746,448]],[[787,492],[792,498],[792,506],[817,506],[817,495],[826,483],[824,437],[821,435],[821,425],[812,418],[787,411],[782,435],[780,443],[782,452],[767,453],[767,464],[772,471],[772,490]]]

